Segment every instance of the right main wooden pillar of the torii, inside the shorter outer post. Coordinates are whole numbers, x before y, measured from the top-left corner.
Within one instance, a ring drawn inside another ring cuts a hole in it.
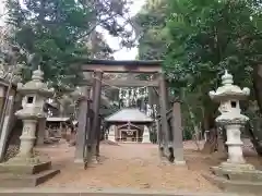
[[[159,74],[159,106],[160,106],[160,121],[162,121],[162,135],[165,154],[168,152],[170,138],[169,126],[167,122],[167,107],[168,107],[168,94],[165,75]]]

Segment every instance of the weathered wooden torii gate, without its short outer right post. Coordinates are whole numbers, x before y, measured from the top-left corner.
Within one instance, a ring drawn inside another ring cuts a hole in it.
[[[115,60],[86,60],[81,63],[82,72],[93,72],[92,79],[84,79],[85,98],[80,101],[79,130],[76,137],[75,162],[97,161],[99,156],[100,137],[100,95],[102,87],[106,85],[117,87],[157,87],[159,95],[160,128],[159,149],[169,148],[172,140],[168,125],[168,93],[165,75],[162,70],[162,61],[115,61]],[[153,81],[130,79],[103,79],[104,73],[140,73],[156,75]],[[93,87],[92,98],[90,89]],[[159,127],[159,126],[158,126]],[[165,150],[164,150],[165,151]]]

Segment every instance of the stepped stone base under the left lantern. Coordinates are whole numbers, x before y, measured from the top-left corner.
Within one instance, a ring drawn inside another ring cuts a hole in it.
[[[0,164],[0,187],[34,187],[58,173],[60,170],[52,169],[51,161],[17,156]]]

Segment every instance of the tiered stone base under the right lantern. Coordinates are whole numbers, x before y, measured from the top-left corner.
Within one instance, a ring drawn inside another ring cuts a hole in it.
[[[218,167],[212,167],[211,172],[203,176],[221,189],[247,194],[262,192],[262,171],[255,170],[252,164],[223,162]]]

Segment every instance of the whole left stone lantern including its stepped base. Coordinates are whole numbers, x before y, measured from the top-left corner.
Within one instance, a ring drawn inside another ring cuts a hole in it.
[[[23,96],[23,109],[15,113],[23,121],[20,152],[8,162],[0,164],[0,172],[3,172],[0,175],[11,173],[4,182],[1,181],[0,186],[4,186],[5,183],[13,183],[12,185],[16,187],[36,186],[59,173],[59,170],[51,170],[51,162],[47,157],[34,151],[37,122],[46,117],[44,103],[53,94],[53,89],[49,89],[47,84],[43,83],[43,75],[38,68],[33,72],[32,81],[17,86],[17,91]]]

